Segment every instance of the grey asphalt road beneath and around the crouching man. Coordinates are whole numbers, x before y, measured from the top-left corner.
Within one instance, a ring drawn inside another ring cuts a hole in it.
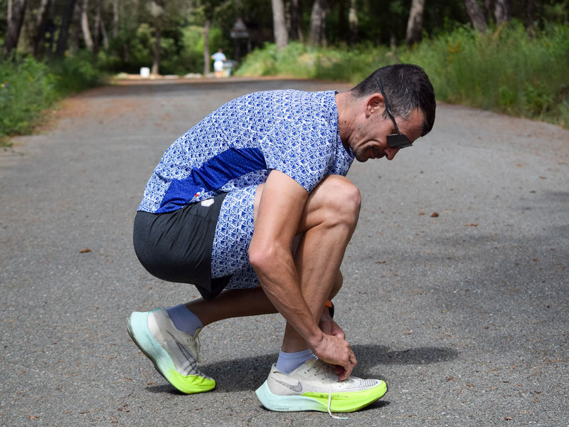
[[[152,278],[132,220],[166,147],[243,93],[299,80],[129,83],[70,98],[0,153],[1,426],[569,426],[569,132],[440,105],[393,160],[354,164],[363,194],[336,297],[359,364],[387,381],[347,420],[273,413],[254,390],[279,315],[201,334],[218,380],[185,396],[128,337],[134,310],[184,302]]]

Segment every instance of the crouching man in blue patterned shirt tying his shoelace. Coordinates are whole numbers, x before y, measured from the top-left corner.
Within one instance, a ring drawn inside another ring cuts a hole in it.
[[[259,389],[274,411],[356,411],[385,382],[351,376],[357,361],[331,300],[356,228],[353,159],[393,159],[430,132],[435,94],[416,65],[380,68],[345,93],[277,90],[228,102],[169,147],[134,221],[139,260],[203,298],[134,312],[129,334],[184,393],[216,381],[196,367],[201,328],[280,312],[277,363]]]

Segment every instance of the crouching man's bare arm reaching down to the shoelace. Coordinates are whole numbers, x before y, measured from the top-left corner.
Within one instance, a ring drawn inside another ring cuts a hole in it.
[[[249,248],[250,263],[267,297],[320,359],[344,367],[341,379],[351,373],[355,357],[343,337],[319,328],[322,307],[304,299],[291,246],[309,193],[292,178],[272,171],[260,198],[255,232]],[[319,310],[313,312],[314,310]]]

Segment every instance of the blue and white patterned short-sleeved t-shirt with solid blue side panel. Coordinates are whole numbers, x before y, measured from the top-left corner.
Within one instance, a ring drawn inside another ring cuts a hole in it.
[[[274,90],[222,105],[176,139],[154,169],[139,211],[163,213],[266,181],[277,169],[312,191],[346,175],[334,91]]]

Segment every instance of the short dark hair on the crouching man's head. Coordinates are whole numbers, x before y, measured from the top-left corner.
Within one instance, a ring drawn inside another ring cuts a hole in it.
[[[425,120],[421,136],[427,135],[432,130],[432,125],[435,124],[437,102],[435,101],[435,90],[425,70],[413,64],[387,65],[368,75],[351,91],[357,97],[379,93],[376,78],[381,80],[383,92],[393,115],[406,120],[413,110],[418,108],[422,111]],[[388,117],[387,111],[383,114],[385,118]]]

